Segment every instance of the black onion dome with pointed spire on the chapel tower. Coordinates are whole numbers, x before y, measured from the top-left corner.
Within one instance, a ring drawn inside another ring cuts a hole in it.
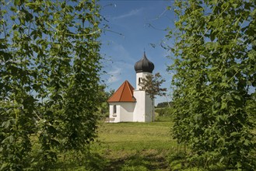
[[[137,61],[135,63],[135,72],[138,73],[138,72],[150,72],[152,73],[155,66],[154,64],[148,60],[148,58],[146,58],[146,54],[144,52],[144,56],[142,57],[141,60]]]

